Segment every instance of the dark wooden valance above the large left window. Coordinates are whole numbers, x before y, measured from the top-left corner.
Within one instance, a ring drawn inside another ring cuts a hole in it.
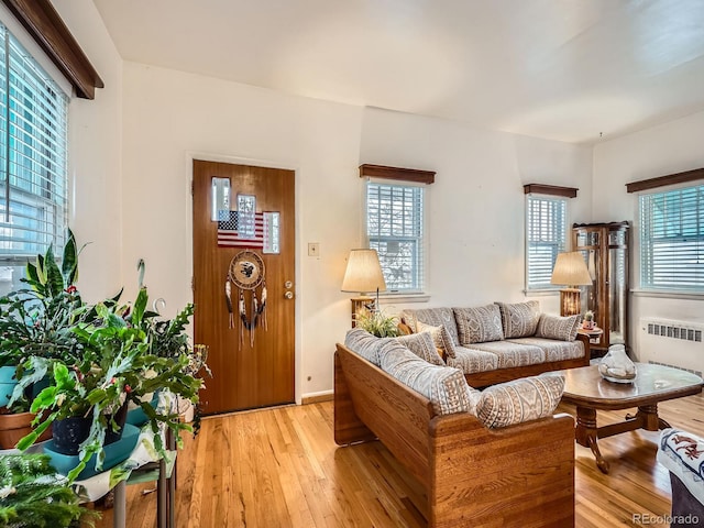
[[[84,99],[95,99],[102,79],[50,0],[2,0]]]

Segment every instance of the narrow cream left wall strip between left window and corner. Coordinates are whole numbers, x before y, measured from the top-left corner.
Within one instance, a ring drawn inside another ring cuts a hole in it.
[[[95,100],[74,98],[68,114],[69,226],[79,244],[78,285],[88,301],[114,295],[123,283],[122,58],[91,0],[53,4],[102,78]]]

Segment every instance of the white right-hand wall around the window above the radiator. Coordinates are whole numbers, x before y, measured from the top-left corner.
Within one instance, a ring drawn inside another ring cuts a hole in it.
[[[600,143],[594,148],[595,221],[630,220],[635,222],[631,242],[631,260],[637,264],[637,202],[636,196],[626,193],[629,182],[654,178],[704,167],[704,112],[689,116],[663,125]],[[638,270],[631,270],[631,287],[638,288]],[[704,322],[704,299],[649,297],[631,295],[631,343],[636,356],[640,356],[640,326],[644,317],[678,321]],[[701,343],[700,343],[701,344]],[[668,341],[658,351],[659,361],[672,364]],[[691,355],[689,364],[678,365],[704,370],[704,354]]]

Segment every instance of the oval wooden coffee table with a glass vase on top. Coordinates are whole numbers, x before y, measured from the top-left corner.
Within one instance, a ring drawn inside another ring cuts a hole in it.
[[[562,400],[576,405],[574,438],[592,450],[596,465],[608,473],[608,462],[598,450],[597,439],[626,431],[657,431],[670,427],[658,416],[658,402],[682,398],[702,392],[702,378],[696,374],[662,365],[636,363],[638,375],[631,383],[604,380],[597,365],[561,371],[565,385]],[[637,407],[625,421],[597,427],[596,410],[619,410]]]

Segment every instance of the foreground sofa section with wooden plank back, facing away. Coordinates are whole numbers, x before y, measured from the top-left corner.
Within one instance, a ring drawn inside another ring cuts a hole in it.
[[[553,414],[564,377],[480,392],[431,354],[428,332],[351,330],[334,353],[336,442],[381,440],[425,487],[430,528],[574,526],[574,420]]]

